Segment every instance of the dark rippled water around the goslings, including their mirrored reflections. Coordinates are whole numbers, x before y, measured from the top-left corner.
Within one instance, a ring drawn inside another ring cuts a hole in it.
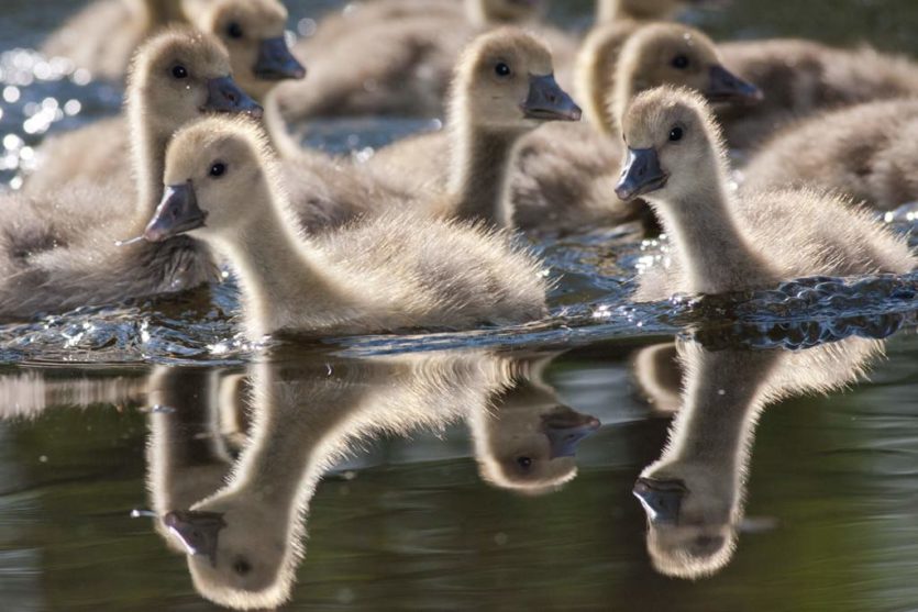
[[[333,5],[298,2],[291,29]],[[118,111],[118,88],[29,51],[74,10],[4,2],[12,188],[46,133]],[[918,53],[906,0],[687,19]],[[308,137],[360,153],[430,127]],[[0,609],[918,609],[916,275],[634,304],[665,243],[533,247],[553,315],[516,329],[258,349],[230,279],[0,326]]]

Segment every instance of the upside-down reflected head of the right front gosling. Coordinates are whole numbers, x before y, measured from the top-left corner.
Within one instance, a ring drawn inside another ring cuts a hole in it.
[[[739,509],[730,475],[704,466],[656,464],[634,485],[648,514],[648,550],[661,574],[710,576],[726,566],[737,543]]]

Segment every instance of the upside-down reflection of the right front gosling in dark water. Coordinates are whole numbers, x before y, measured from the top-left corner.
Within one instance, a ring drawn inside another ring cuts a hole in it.
[[[642,471],[634,496],[648,514],[655,569],[696,579],[720,570],[735,549],[762,410],[783,398],[853,382],[883,354],[884,344],[848,337],[792,352],[683,341],[676,348],[684,372],[682,407],[662,457]]]

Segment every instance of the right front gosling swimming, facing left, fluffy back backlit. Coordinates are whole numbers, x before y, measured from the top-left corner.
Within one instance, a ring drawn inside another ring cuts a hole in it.
[[[639,299],[916,266],[903,240],[840,198],[792,190],[730,194],[720,130],[697,93],[668,87],[641,93],[626,114],[623,135],[628,158],[618,196],[644,198],[673,243],[673,265],[649,270]]]

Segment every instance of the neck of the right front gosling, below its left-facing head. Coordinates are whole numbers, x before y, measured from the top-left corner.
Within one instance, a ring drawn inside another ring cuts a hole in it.
[[[777,275],[749,245],[723,191],[725,171],[699,169],[694,189],[659,200],[646,196],[663,222],[678,265],[686,275],[688,293],[725,293],[761,287]]]

